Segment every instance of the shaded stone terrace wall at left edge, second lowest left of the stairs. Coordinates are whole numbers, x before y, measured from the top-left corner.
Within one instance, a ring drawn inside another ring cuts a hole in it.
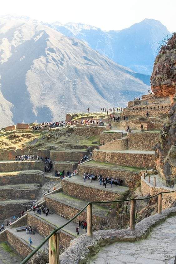
[[[1,178],[1,177],[0,177]],[[38,197],[40,187],[33,186],[32,189],[12,187],[0,188],[0,200],[5,201],[10,199],[36,199]]]

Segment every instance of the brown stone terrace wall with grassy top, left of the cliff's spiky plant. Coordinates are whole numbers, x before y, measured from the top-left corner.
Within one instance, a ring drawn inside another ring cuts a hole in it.
[[[159,133],[128,133],[128,148],[134,150],[153,150],[159,140]]]

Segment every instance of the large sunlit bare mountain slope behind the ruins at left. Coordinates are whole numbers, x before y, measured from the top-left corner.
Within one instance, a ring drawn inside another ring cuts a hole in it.
[[[1,126],[125,106],[149,88],[85,42],[25,19],[0,18],[0,75]]]

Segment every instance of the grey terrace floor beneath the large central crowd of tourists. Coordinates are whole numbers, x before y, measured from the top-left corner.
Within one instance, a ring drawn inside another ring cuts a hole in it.
[[[70,181],[73,183],[77,183],[77,184],[81,184],[81,185],[85,185],[91,188],[96,188],[96,189],[102,189],[105,190],[106,192],[113,192],[113,193],[125,193],[126,191],[129,190],[128,187],[125,186],[114,186],[111,188],[110,184],[106,184],[106,188],[103,187],[103,183],[102,185],[100,185],[100,182],[98,180],[93,181],[92,183],[90,183],[90,180],[86,179],[86,182],[84,182],[83,177],[76,175],[76,176],[72,176],[71,178],[66,178],[66,181]]]

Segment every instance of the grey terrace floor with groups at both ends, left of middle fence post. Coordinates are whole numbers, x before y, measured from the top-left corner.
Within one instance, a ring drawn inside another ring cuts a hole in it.
[[[43,214],[43,212],[41,212],[41,214],[37,214],[34,213],[33,211],[31,211],[30,213],[35,214],[37,217],[39,217],[42,220],[45,220],[46,222],[53,224],[56,227],[60,227],[62,225],[64,225],[68,219],[65,219],[53,212],[49,212],[49,215],[46,216],[45,214]],[[68,225],[66,225],[64,228],[62,228],[63,231],[66,231],[68,233],[70,233],[73,236],[76,236],[76,227],[78,225],[74,222],[69,223]],[[85,233],[84,229],[79,228],[79,234],[82,235]]]

